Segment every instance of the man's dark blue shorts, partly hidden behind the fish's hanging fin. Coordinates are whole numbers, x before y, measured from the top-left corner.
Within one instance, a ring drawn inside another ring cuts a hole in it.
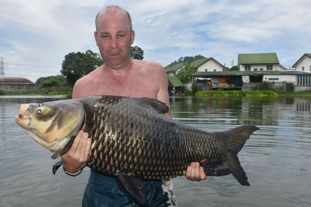
[[[168,192],[164,192],[163,181],[145,181],[146,197],[150,207],[168,207]],[[91,170],[84,192],[83,207],[139,207],[131,203],[127,196],[119,190],[115,178]]]

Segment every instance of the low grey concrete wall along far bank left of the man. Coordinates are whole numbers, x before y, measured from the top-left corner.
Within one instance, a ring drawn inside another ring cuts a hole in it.
[[[39,85],[0,85],[0,89],[3,89],[4,92],[24,92],[24,93],[38,93],[45,91],[72,91],[72,85],[58,85],[53,86],[49,90],[41,89]]]

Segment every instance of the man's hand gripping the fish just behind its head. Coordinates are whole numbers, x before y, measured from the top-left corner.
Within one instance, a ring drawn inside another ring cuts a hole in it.
[[[91,149],[91,139],[87,137],[88,133],[80,130],[68,152],[61,156],[64,168],[69,173],[76,173],[86,166]]]

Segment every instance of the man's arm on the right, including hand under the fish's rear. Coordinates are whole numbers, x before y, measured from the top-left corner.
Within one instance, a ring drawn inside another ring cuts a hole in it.
[[[157,93],[157,99],[164,102],[170,108],[170,111],[166,113],[166,115],[172,118],[169,100],[168,79],[164,68],[162,66],[161,68],[162,72],[160,74],[161,78],[160,78],[159,91]],[[199,162],[192,162],[191,165],[189,165],[187,168],[186,178],[192,181],[201,181],[205,180],[207,176],[204,173],[203,167],[200,167]]]

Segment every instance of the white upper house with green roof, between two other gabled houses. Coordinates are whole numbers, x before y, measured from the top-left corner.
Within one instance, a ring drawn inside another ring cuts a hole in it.
[[[279,71],[288,70],[279,64],[276,53],[239,54],[240,71]]]

